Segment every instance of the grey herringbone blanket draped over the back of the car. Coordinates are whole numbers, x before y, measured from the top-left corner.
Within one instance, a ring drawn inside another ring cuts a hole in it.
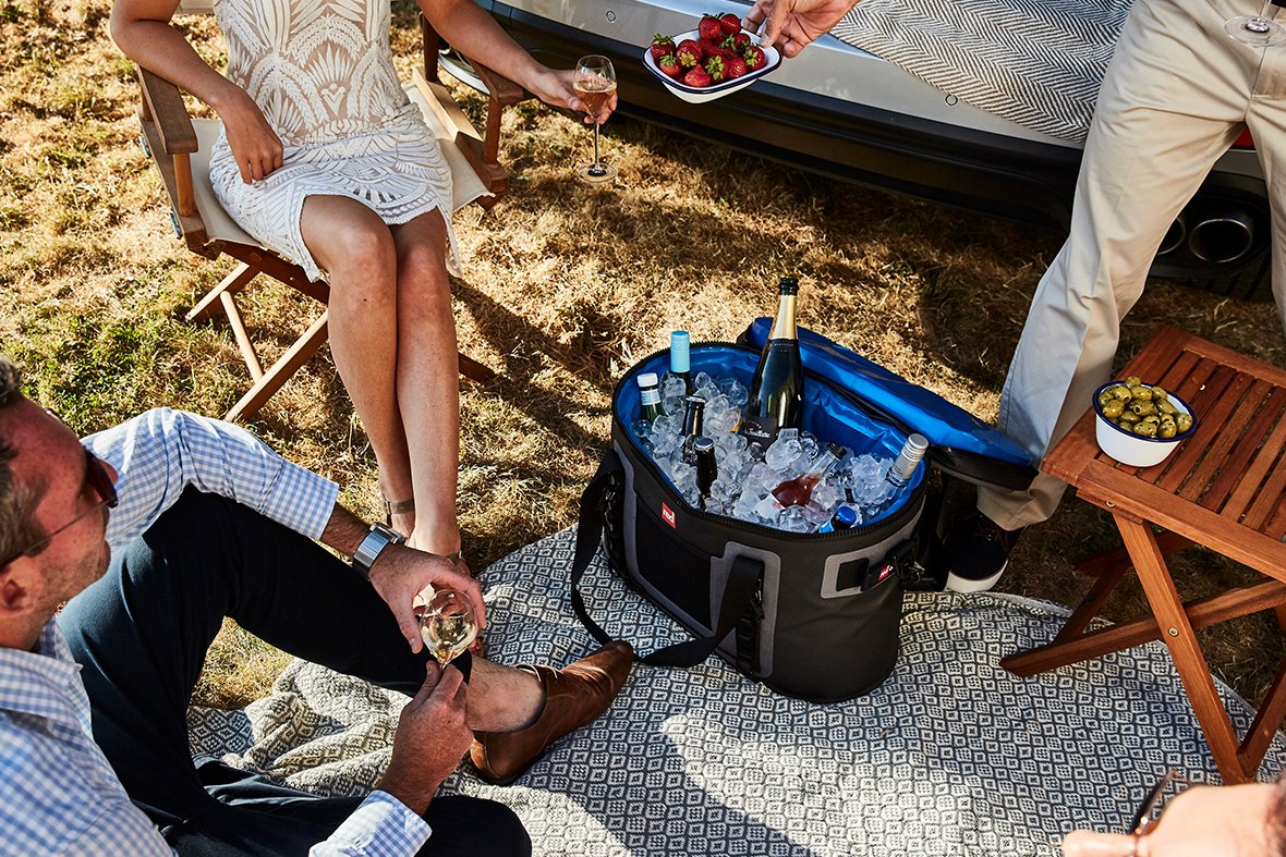
[[[1133,0],[863,0],[831,35],[974,107],[1080,143]]]

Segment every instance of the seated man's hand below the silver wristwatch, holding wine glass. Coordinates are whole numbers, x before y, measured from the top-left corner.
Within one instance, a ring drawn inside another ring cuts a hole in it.
[[[473,615],[477,618],[478,632],[486,627],[486,605],[482,603],[482,588],[469,576],[464,563],[455,563],[437,554],[415,550],[405,545],[388,545],[370,567],[370,585],[379,592],[397,628],[406,637],[412,651],[419,651],[424,641],[419,636],[419,621],[412,604],[424,587],[436,590],[458,590],[473,603]]]

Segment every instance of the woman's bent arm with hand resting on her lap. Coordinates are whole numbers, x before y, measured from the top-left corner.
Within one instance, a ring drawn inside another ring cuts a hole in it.
[[[206,64],[170,26],[179,0],[116,0],[112,39],[143,68],[185,89],[219,113],[242,181],[249,184],[282,166],[282,140],[253,99]]]

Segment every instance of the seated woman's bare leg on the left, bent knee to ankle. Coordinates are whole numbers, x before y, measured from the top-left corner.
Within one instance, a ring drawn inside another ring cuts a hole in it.
[[[300,233],[331,284],[331,353],[370,438],[379,490],[391,502],[414,496],[406,436],[397,410],[397,249],[388,226],[345,197],[305,199]],[[394,515],[410,532],[413,510]]]

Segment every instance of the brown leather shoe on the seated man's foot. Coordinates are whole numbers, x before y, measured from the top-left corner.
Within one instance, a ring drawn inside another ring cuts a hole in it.
[[[624,640],[562,669],[520,667],[535,673],[545,689],[545,705],[536,722],[516,732],[473,732],[473,759],[486,782],[509,785],[539,759],[545,748],[607,711],[630,675],[634,649]]]

